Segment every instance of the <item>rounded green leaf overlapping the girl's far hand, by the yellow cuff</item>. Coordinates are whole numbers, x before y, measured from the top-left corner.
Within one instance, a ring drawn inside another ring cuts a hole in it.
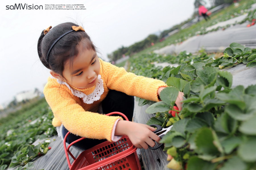
[[[173,106],[179,94],[175,87],[166,87],[160,92],[160,99],[168,106]],[[169,109],[170,110],[170,109]]]

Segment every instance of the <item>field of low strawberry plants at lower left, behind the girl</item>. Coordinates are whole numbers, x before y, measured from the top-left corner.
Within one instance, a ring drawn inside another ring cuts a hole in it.
[[[0,122],[0,170],[7,167],[29,169],[35,158],[46,154],[49,140],[37,146],[32,145],[37,139],[45,139],[56,135],[51,125],[53,114],[45,99],[34,105],[2,118]],[[29,163],[29,164],[28,164]],[[22,167],[23,166],[23,167]]]

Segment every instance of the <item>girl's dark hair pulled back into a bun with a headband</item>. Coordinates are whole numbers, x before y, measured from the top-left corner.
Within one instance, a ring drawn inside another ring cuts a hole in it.
[[[53,42],[64,33],[72,30],[72,26],[79,26],[72,22],[66,22],[53,27],[46,35],[42,31],[37,44],[37,52],[40,61],[45,67],[63,76],[64,65],[70,59],[70,65],[73,63],[74,57],[79,50],[77,45],[82,39],[86,39],[86,48],[96,51],[96,47],[92,43],[88,34],[84,31],[73,31],[63,36],[51,49],[48,61],[46,59],[49,48]]]

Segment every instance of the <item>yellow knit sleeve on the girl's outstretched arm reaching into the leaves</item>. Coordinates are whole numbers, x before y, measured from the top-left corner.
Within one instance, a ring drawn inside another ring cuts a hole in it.
[[[106,84],[109,89],[151,101],[159,101],[158,88],[167,87],[161,80],[137,76],[134,73],[128,73],[123,67],[102,62],[104,62],[103,75],[107,77]]]

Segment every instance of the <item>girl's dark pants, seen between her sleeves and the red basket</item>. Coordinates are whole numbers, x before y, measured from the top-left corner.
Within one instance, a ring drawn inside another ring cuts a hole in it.
[[[121,112],[127,116],[129,121],[132,121],[133,118],[133,109],[134,109],[134,97],[129,96],[125,93],[118,92],[115,90],[110,90],[108,92],[108,95],[106,98],[102,101],[102,110],[104,114],[108,114],[110,112]],[[112,116],[120,116],[120,115],[112,115]],[[124,119],[124,118],[123,118]],[[124,119],[125,120],[125,119]],[[63,137],[67,134],[68,130],[63,127],[62,134]],[[67,137],[67,143],[71,143],[77,139],[81,138],[80,136],[69,134]],[[106,139],[89,139],[86,138],[82,141],[79,141],[74,144],[77,148],[86,150],[88,148],[91,148],[95,145],[98,145],[104,141],[107,141]]]

